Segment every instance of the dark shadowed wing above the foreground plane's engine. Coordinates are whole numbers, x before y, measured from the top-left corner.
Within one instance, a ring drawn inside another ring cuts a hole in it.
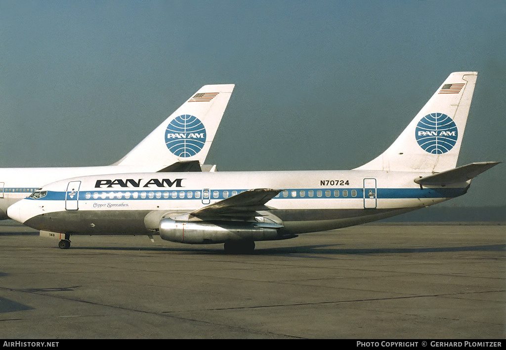
[[[225,198],[213,204],[185,214],[188,217],[198,217],[200,220],[248,221],[256,216],[258,211],[269,210],[265,205],[282,190],[254,189]]]

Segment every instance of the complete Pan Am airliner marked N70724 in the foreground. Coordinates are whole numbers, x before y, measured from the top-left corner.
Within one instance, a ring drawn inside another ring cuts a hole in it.
[[[465,194],[499,162],[456,166],[476,72],[455,72],[381,155],[352,170],[134,172],[79,176],[34,191],[10,217],[60,239],[159,235],[250,253],[255,241],[380,220]]]

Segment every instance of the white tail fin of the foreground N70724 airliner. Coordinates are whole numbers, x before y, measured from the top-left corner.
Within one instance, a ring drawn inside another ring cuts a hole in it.
[[[451,73],[397,140],[357,169],[441,172],[454,168],[477,75]]]

